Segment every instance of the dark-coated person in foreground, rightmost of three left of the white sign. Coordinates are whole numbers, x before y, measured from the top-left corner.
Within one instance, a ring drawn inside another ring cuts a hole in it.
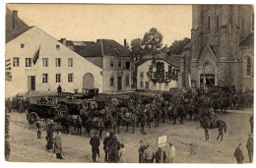
[[[107,149],[108,149],[107,163],[118,163],[119,161],[118,150],[120,149],[120,144],[113,132],[110,132],[110,138],[107,142]]]

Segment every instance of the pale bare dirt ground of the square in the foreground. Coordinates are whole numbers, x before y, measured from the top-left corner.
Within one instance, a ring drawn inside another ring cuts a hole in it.
[[[14,138],[11,142],[10,161],[15,162],[92,162],[92,150],[89,139],[82,135],[62,134],[65,159],[57,160],[53,152],[45,151],[45,132],[42,132],[42,139],[36,138],[36,132],[28,129],[25,114],[10,113],[10,132]],[[250,115],[240,113],[226,113],[218,116],[227,126],[227,133],[222,142],[216,140],[218,130],[210,131],[210,140],[205,140],[204,130],[199,128],[198,122],[184,121],[184,125],[171,123],[160,123],[160,128],[146,128],[146,135],[139,133],[136,128],[135,134],[126,132],[126,128],[120,129],[119,139],[126,147],[127,160],[130,163],[138,162],[139,141],[144,140],[150,143],[157,150],[157,138],[167,135],[167,140],[176,147],[175,163],[235,163],[233,152],[239,142],[243,143],[242,150],[244,162],[248,162],[246,149],[247,135],[250,132]],[[106,132],[103,132],[105,135]],[[54,133],[54,136],[56,133]],[[104,153],[102,140],[100,141],[100,158],[98,162],[103,162]]]

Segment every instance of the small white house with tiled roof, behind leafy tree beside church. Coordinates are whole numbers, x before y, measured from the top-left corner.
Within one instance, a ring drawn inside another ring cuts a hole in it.
[[[171,57],[176,56],[161,56],[157,55],[155,58],[146,58],[138,61],[137,66],[137,89],[139,90],[169,90],[173,87],[178,87],[178,72],[179,72],[179,57],[175,59]],[[153,62],[156,65],[153,65]],[[157,78],[157,64],[161,64],[163,67],[162,79],[170,79],[165,83],[158,83],[154,80]],[[152,73],[149,72],[150,67],[153,67]],[[172,76],[170,76],[172,75]],[[169,78],[171,77],[171,78]]]

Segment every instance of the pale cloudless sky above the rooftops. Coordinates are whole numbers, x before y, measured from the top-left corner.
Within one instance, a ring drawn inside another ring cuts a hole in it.
[[[114,39],[123,44],[143,38],[150,28],[163,34],[162,44],[191,36],[191,5],[7,4],[29,26],[56,39],[96,41]]]

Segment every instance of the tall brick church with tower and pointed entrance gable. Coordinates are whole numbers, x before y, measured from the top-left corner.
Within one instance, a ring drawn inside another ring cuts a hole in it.
[[[183,48],[183,86],[253,88],[254,9],[250,5],[193,5],[191,42]],[[205,82],[204,82],[204,79]]]

